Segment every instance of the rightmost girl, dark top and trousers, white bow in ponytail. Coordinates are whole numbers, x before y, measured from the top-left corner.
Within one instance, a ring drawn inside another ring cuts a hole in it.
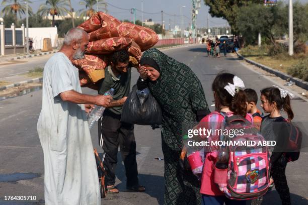
[[[285,168],[288,159],[285,157],[289,142],[288,126],[286,121],[294,117],[290,105],[290,99],[294,97],[291,92],[278,86],[267,87],[261,90],[261,107],[269,115],[262,119],[261,133],[266,140],[276,141],[275,147],[271,148],[271,176],[274,179],[275,188],[280,196],[282,204],[291,204],[290,191],[285,176]],[[280,111],[283,110],[288,120],[284,119]]]

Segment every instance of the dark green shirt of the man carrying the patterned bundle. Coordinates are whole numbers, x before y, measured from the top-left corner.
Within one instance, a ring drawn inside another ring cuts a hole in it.
[[[122,97],[128,96],[130,91],[130,77],[131,77],[131,67],[127,68],[126,73],[121,73],[121,75],[115,76],[111,70],[110,65],[105,69],[105,78],[100,84],[99,94],[104,94],[111,88],[114,89],[113,99],[118,100]],[[121,115],[122,107],[109,108],[111,112],[117,115]]]

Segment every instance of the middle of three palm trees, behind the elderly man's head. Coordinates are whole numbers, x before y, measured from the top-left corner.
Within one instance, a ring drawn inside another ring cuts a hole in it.
[[[42,4],[37,11],[38,14],[52,16],[52,27],[54,27],[54,17],[63,16],[65,13],[69,14],[69,3],[67,0],[47,0]]]

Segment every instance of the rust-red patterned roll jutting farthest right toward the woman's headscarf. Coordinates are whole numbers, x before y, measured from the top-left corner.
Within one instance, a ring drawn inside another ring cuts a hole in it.
[[[149,28],[128,22],[123,22],[117,27],[114,27],[115,25],[115,23],[108,25],[104,22],[102,28],[88,34],[89,41],[111,37],[125,37],[134,40],[141,48],[141,51],[151,48],[158,42],[158,35]]]

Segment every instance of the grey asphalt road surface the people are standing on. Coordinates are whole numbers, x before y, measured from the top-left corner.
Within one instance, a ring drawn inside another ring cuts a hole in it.
[[[189,65],[202,82],[208,104],[213,104],[211,82],[221,70],[240,76],[247,87],[260,90],[275,84],[266,76],[244,66],[235,58],[207,58],[204,47],[194,46],[164,51],[166,54]],[[137,79],[133,72],[132,82]],[[133,84],[133,83],[132,83]],[[279,84],[278,84],[279,85]],[[94,93],[84,89],[86,93]],[[41,110],[41,90],[24,96],[0,101],[0,204],[43,204],[44,176],[43,153],[36,132],[36,122]],[[307,122],[307,101],[300,98],[292,100],[296,121]],[[210,107],[213,110],[213,107]],[[98,146],[97,127],[94,127],[92,139]],[[122,163],[118,163],[117,181],[119,194],[109,194],[102,204],[162,204],[164,194],[164,160],[161,149],[159,130],[151,130],[148,126],[135,126],[137,142],[137,162],[140,184],[146,186],[146,192],[134,193],[125,190],[125,173]],[[120,155],[118,155],[120,161]],[[308,154],[301,153],[298,161],[287,166],[287,178],[292,193],[293,204],[308,204]],[[21,173],[21,174],[13,174]],[[9,174],[9,175],[2,175]],[[19,178],[20,177],[20,178]],[[21,180],[19,180],[21,179]],[[1,181],[11,182],[1,182]],[[8,202],[6,195],[35,195],[36,202]],[[281,204],[277,192],[273,189],[263,204]]]

